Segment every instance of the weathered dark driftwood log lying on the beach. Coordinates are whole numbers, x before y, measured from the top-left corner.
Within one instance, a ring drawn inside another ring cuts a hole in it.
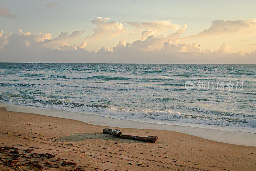
[[[149,143],[156,143],[157,136],[130,136],[130,135],[122,135],[122,132],[118,129],[111,129],[111,128],[105,128],[103,129],[104,134],[109,134],[112,136],[116,136],[118,138],[123,138],[123,139],[132,139],[132,140],[139,140],[139,141],[144,141],[144,142],[149,142]]]

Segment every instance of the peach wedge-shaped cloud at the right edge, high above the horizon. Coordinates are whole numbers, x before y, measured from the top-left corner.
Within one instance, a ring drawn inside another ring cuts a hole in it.
[[[247,33],[256,34],[256,19],[249,20],[215,20],[212,21],[210,28],[203,30],[196,35],[188,37],[200,36],[220,36],[230,33]]]

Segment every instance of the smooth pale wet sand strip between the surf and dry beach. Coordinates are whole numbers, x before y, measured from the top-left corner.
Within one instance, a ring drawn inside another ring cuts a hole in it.
[[[3,102],[0,102],[0,107],[5,107],[6,110],[12,112],[34,113],[45,116],[53,116],[57,118],[72,119],[98,126],[175,131],[192,136],[205,138],[216,142],[256,146],[256,134],[250,132],[221,130],[215,128],[198,128],[180,125],[165,125],[159,123],[147,123],[132,120],[113,119],[110,117],[101,116],[99,114],[78,113],[34,106],[14,105]]]

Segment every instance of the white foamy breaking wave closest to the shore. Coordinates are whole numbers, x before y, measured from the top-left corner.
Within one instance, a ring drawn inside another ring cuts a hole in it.
[[[149,118],[156,120],[170,120],[183,123],[193,123],[193,124],[206,124],[206,125],[224,125],[224,126],[235,126],[235,127],[256,127],[256,120],[253,118],[240,119],[238,117],[210,117],[210,116],[196,116],[193,114],[174,112],[172,110],[130,110],[123,109],[115,106],[109,107],[90,107],[86,105],[75,107],[78,102],[72,102],[69,100],[52,99],[48,97],[37,96],[36,101],[51,101],[58,100],[62,105],[56,105],[54,102],[52,104],[42,104],[33,102],[21,102],[12,99],[10,96],[2,94],[1,99],[7,101],[11,104],[17,105],[28,105],[36,107],[46,107],[59,110],[67,110],[72,112],[97,112],[105,117],[111,117],[115,119],[127,119],[130,120],[140,120],[141,118]],[[231,121],[230,121],[231,120]]]

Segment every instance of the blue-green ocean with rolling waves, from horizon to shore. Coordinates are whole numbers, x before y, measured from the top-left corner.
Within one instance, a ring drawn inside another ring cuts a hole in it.
[[[0,63],[0,102],[256,133],[256,65]]]

